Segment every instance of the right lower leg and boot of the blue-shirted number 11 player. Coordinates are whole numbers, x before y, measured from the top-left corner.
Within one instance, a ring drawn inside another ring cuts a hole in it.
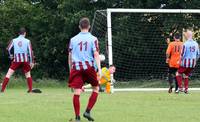
[[[94,121],[94,119],[90,115],[90,111],[92,110],[93,106],[95,105],[95,103],[97,101],[98,94],[99,94],[99,86],[93,87],[93,92],[89,98],[88,106],[86,108],[85,113],[83,114],[83,116],[86,119],[88,119],[88,121]]]

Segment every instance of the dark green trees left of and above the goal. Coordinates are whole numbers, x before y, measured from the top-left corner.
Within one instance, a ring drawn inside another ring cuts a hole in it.
[[[33,75],[66,79],[67,46],[79,32],[78,21],[106,8],[199,8],[198,0],[0,0],[0,68],[9,66],[6,47],[21,26],[28,30],[39,64]]]

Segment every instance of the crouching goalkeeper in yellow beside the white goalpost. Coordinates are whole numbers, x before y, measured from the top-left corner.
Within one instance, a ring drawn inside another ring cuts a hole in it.
[[[105,87],[106,93],[111,93],[111,74],[114,74],[115,70],[116,70],[116,68],[114,65],[110,65],[109,68],[103,67],[101,69],[102,76],[99,80],[99,85],[101,87]],[[88,88],[91,88],[90,84],[83,86],[83,90],[88,89]]]

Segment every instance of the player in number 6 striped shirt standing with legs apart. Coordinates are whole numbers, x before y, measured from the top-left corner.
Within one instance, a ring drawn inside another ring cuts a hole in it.
[[[19,36],[11,40],[7,47],[10,58],[12,58],[13,61],[2,83],[1,92],[5,91],[10,77],[18,68],[21,68],[25,73],[28,84],[28,93],[32,92],[31,69],[34,66],[33,51],[30,40],[25,38],[26,34],[26,29],[20,28]],[[14,56],[11,54],[12,48],[14,48]]]

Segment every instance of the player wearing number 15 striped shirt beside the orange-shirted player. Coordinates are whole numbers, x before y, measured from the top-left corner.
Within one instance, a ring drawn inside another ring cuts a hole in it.
[[[178,81],[179,91],[183,91],[182,87],[182,75],[185,74],[184,77],[184,92],[188,93],[188,76],[195,68],[197,60],[199,58],[199,45],[196,41],[192,38],[192,31],[186,30],[184,32],[184,36],[186,37],[187,41],[183,45],[182,54],[181,54],[181,64],[176,74],[176,79]]]

